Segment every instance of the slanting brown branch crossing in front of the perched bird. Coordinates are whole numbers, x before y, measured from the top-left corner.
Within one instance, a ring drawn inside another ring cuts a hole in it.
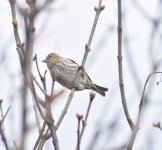
[[[104,9],[105,7],[102,6],[102,0],[99,0],[99,4],[98,4],[98,7],[95,7],[95,11],[96,11],[96,15],[95,15],[95,19],[94,19],[94,22],[93,22],[93,26],[92,26],[92,30],[90,32],[90,36],[89,36],[89,39],[88,39],[88,43],[85,45],[85,53],[84,53],[84,56],[83,56],[83,60],[82,60],[82,63],[81,63],[81,69],[78,69],[78,73],[76,75],[76,78],[75,78],[75,82],[74,82],[74,85],[77,85],[78,82],[79,82],[79,78],[80,78],[80,75],[82,73],[82,69],[84,68],[84,65],[85,65],[85,62],[86,62],[86,59],[87,59],[87,56],[90,52],[90,46],[91,46],[91,43],[92,43],[92,39],[94,37],[94,32],[95,32],[95,29],[96,29],[96,26],[97,26],[97,22],[98,22],[98,19],[99,19],[99,15],[101,13],[101,11]],[[60,126],[68,108],[69,108],[69,105],[73,99],[73,96],[74,96],[74,93],[75,93],[75,88],[73,88],[69,94],[69,97],[68,97],[68,100],[65,104],[65,107],[56,123],[56,129],[58,129],[58,127]]]

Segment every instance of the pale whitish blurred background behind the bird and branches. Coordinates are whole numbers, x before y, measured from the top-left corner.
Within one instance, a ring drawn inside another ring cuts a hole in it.
[[[37,1],[38,6],[43,3],[43,0]],[[17,0],[17,4],[22,8],[27,7],[24,1]],[[33,57],[37,54],[42,74],[47,67],[41,61],[51,52],[81,64],[95,17],[94,6],[97,5],[97,0],[53,1],[39,13],[35,20]],[[93,82],[109,88],[109,91],[106,97],[96,94],[81,142],[83,150],[125,149],[131,135],[119,90],[117,1],[104,0],[103,5],[105,9],[100,14],[85,70]],[[21,141],[23,74],[16,51],[9,2],[1,1],[0,10],[0,98],[3,99],[4,113],[9,106],[11,107],[3,128],[7,142],[13,148],[13,141],[17,145]],[[162,71],[162,1],[126,0],[122,3],[122,12],[124,85],[128,110],[135,123],[148,75],[154,71]],[[23,41],[25,40],[24,20],[18,9],[17,18]],[[35,62],[32,67],[34,76],[40,81]],[[50,93],[52,81],[49,72],[46,78]],[[161,150],[162,148],[162,131],[153,126],[153,123],[162,120],[162,83],[157,85],[159,81],[161,75],[155,74],[148,82],[134,150]],[[55,84],[54,92],[62,89],[64,93],[52,103],[52,113],[56,121],[64,108],[70,90],[58,83]],[[37,90],[43,97],[41,91]],[[85,115],[88,102],[88,90],[75,92],[68,112],[57,131],[61,150],[75,149],[76,113]],[[25,148],[32,149],[38,137],[38,130],[30,91],[28,91],[27,101],[27,126]],[[1,140],[0,149],[5,149]],[[53,149],[51,140],[46,142],[44,149]]]

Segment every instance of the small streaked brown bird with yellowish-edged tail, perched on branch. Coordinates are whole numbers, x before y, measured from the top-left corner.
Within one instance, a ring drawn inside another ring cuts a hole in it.
[[[105,96],[105,92],[108,90],[105,87],[94,84],[84,70],[82,71],[77,87],[74,86],[79,65],[71,59],[51,53],[42,62],[47,64],[52,79],[70,90],[74,87],[77,91],[91,89],[102,96]]]

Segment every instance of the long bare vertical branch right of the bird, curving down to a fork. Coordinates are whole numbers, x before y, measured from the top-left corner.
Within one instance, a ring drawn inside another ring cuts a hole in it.
[[[123,66],[122,66],[122,11],[121,11],[121,0],[118,0],[118,70],[119,70],[119,86],[120,86],[120,94],[122,99],[122,105],[124,109],[124,113],[126,119],[129,123],[131,129],[133,129],[134,124],[129,115],[126,97],[125,97],[125,90],[124,90],[124,81],[123,81]]]

